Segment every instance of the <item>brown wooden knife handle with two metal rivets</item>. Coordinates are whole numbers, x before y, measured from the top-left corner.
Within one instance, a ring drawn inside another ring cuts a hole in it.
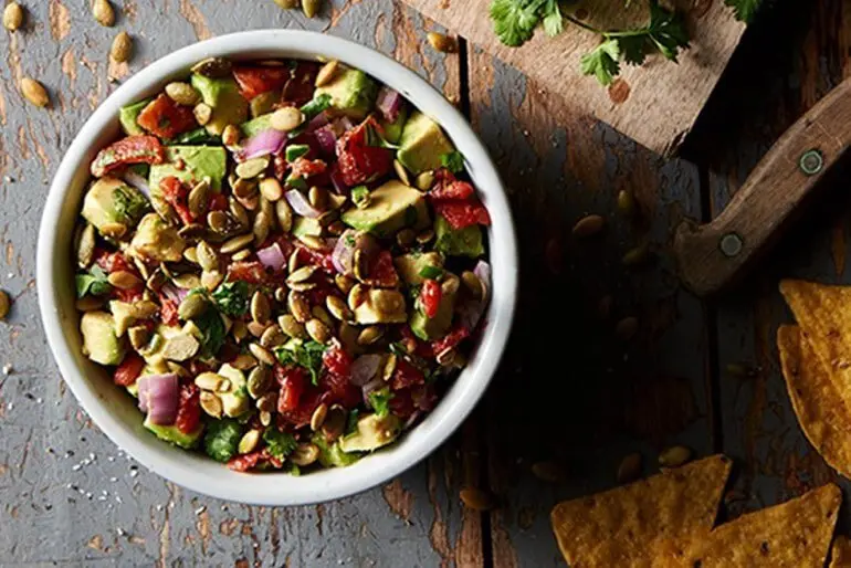
[[[850,144],[848,78],[777,140],[716,219],[677,228],[674,254],[685,286],[703,296],[739,278]]]

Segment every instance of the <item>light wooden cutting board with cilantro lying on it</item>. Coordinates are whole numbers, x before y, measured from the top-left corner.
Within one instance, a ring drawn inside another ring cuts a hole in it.
[[[522,48],[503,45],[493,32],[491,0],[403,0],[452,33],[526,73],[536,87],[561,95],[566,105],[603,120],[648,148],[674,154],[697,119],[703,105],[738,44],[745,25],[723,0],[690,0],[686,15],[692,46],[679,64],[653,55],[635,67],[622,65],[611,86],[582,76],[579,59],[599,44],[599,36],[566,22],[565,32],[547,38],[540,29]],[[645,21],[645,7],[623,0],[582,0],[574,13],[597,28],[621,28]]]

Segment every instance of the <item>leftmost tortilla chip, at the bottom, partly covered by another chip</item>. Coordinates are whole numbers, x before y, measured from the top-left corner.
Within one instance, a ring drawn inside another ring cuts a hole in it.
[[[731,461],[713,455],[589,497],[559,503],[553,532],[571,568],[649,567],[653,538],[712,528]]]

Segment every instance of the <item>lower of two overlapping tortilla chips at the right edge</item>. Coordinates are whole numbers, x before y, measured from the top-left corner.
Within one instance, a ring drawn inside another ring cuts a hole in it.
[[[780,326],[777,349],[786,388],[807,440],[828,465],[851,478],[851,411],[798,327]]]

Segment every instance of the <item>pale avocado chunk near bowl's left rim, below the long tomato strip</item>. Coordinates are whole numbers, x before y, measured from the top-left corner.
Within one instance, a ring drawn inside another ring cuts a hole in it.
[[[148,200],[120,179],[101,178],[83,199],[83,218],[99,231],[104,225],[122,223],[133,229],[148,209]]]

